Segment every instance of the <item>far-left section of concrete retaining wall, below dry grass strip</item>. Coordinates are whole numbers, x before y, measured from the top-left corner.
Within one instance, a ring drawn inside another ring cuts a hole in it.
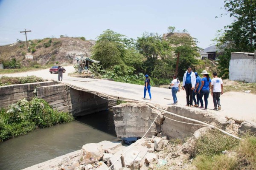
[[[6,108],[20,99],[31,100],[35,88],[45,85],[54,85],[53,81],[35,82],[20,85],[6,85],[0,87],[0,108]]]

